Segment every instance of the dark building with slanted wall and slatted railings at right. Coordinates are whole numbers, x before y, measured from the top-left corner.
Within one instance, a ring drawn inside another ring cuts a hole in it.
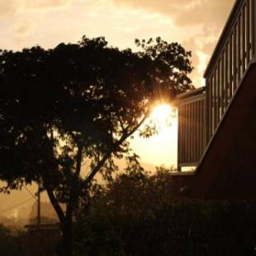
[[[204,78],[204,88],[178,96],[173,193],[256,199],[255,0],[235,2]]]

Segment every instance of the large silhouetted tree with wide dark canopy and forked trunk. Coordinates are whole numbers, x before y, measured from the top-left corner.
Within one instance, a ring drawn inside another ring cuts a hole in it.
[[[190,53],[181,45],[158,38],[140,46],[133,53],[83,36],[52,50],[0,52],[0,178],[6,191],[40,183],[59,217],[64,255],[72,251],[73,212],[95,175],[111,179],[122,157],[127,169],[141,169],[127,139],[160,95],[173,99],[192,88]],[[153,133],[146,127],[142,135]]]

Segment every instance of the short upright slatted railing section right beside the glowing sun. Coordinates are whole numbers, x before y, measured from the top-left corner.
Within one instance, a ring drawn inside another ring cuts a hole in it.
[[[205,88],[178,97],[178,168],[197,166],[206,147]]]

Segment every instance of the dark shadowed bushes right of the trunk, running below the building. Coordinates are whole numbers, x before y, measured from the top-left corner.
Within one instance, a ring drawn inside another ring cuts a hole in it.
[[[169,181],[161,171],[108,183],[78,214],[75,255],[255,255],[254,202],[174,200]]]

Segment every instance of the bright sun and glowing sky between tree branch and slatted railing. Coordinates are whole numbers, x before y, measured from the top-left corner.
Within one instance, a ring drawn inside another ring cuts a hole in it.
[[[134,140],[131,140],[131,148],[140,155],[140,159],[144,163],[175,167],[178,151],[176,108],[164,102],[155,104],[146,123],[149,126],[155,125],[158,133],[146,139],[141,137],[139,132],[136,133]]]

